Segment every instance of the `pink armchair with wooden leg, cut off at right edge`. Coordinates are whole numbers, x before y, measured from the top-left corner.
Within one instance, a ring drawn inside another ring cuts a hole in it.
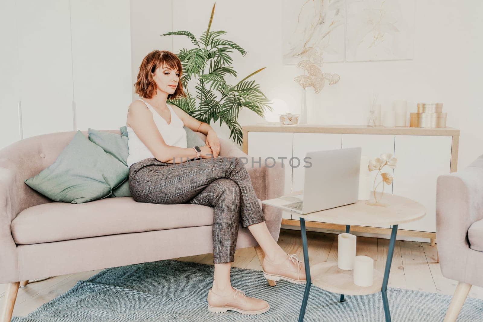
[[[483,155],[438,177],[436,236],[441,273],[458,281],[445,322],[455,321],[471,285],[483,286]]]

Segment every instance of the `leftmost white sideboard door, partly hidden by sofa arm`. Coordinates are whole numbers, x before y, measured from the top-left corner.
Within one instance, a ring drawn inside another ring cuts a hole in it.
[[[292,157],[293,133],[286,132],[248,132],[248,155],[254,157],[254,167],[259,166],[258,157],[261,165],[273,164],[275,161],[282,162],[285,168],[285,190],[284,194],[292,192],[292,168],[288,166],[288,160]],[[251,166],[252,160],[249,158],[247,166]],[[292,219],[291,212],[282,211],[282,218]]]

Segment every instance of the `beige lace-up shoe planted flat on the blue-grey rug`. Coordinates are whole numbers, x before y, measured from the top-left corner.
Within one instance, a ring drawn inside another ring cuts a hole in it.
[[[208,310],[213,313],[225,313],[227,310],[242,314],[261,314],[270,309],[267,301],[248,297],[245,292],[232,287],[232,293],[219,295],[211,289],[208,291]]]

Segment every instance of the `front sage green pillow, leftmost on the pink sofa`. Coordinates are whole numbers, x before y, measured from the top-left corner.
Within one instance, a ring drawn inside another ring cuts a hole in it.
[[[78,204],[110,196],[128,174],[125,164],[77,131],[51,166],[24,182],[54,201]]]

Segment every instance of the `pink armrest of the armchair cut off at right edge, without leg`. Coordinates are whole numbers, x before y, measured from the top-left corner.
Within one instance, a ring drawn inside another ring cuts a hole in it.
[[[469,265],[482,257],[469,248],[468,229],[483,218],[483,168],[467,167],[438,177],[436,237],[444,277],[468,282]]]

